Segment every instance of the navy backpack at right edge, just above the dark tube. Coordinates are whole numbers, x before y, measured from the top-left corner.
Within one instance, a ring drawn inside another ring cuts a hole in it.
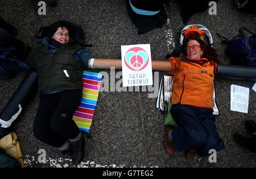
[[[245,32],[251,36],[246,37]],[[228,40],[220,34],[217,35],[222,38],[222,43],[228,45],[225,53],[231,58],[232,64],[256,66],[256,34],[246,27],[241,27],[239,35],[232,40]]]

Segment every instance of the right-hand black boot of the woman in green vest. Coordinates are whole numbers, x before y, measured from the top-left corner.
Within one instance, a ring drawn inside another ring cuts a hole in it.
[[[81,136],[79,141],[69,143],[69,147],[71,149],[71,157],[74,165],[78,165],[81,163],[82,158],[84,157],[84,137]]]

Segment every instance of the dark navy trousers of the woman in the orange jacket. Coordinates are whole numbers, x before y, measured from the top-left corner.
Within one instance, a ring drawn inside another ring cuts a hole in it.
[[[218,151],[225,147],[218,136],[212,109],[172,105],[171,114],[179,126],[172,131],[178,151],[197,149],[199,156],[208,156],[209,149]]]

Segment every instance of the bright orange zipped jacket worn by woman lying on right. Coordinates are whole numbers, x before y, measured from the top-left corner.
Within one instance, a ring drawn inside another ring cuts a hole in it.
[[[170,57],[174,76],[172,88],[172,104],[191,105],[212,109],[213,107],[213,80],[217,64],[197,64],[189,61],[185,55]]]

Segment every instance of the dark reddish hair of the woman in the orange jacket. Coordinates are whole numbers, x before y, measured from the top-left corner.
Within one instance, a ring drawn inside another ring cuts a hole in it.
[[[213,47],[210,47],[209,45],[206,45],[205,42],[199,38],[199,35],[192,34],[187,36],[187,38],[183,40],[183,47],[187,46],[189,40],[196,40],[200,44],[200,48],[203,49],[204,51],[202,55],[203,58],[208,59],[210,63],[217,63],[217,64],[220,63],[220,61],[218,60],[216,49],[214,49]],[[185,52],[185,49],[184,49],[184,52]]]

